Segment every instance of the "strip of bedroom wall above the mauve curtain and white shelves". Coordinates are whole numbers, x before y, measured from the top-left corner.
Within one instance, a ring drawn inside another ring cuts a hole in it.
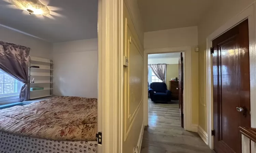
[[[44,40],[28,36],[14,30],[0,27],[0,40],[7,43],[13,43],[30,47],[30,56],[51,59],[52,44]]]

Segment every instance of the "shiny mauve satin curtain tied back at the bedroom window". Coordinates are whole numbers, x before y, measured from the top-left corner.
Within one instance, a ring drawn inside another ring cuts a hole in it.
[[[29,99],[29,51],[28,47],[0,41],[0,69],[24,83],[20,90],[22,101]]]

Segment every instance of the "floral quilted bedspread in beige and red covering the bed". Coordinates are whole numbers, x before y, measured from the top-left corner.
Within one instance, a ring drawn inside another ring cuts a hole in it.
[[[95,141],[97,99],[54,97],[0,110],[0,131],[50,140]]]

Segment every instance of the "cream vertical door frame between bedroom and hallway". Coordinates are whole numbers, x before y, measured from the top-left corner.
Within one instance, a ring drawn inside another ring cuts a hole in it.
[[[122,152],[123,0],[98,1],[98,153]]]

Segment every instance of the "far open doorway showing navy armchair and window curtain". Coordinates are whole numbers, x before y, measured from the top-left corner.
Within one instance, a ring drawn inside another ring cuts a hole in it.
[[[183,53],[148,55],[148,126],[184,128]]]

